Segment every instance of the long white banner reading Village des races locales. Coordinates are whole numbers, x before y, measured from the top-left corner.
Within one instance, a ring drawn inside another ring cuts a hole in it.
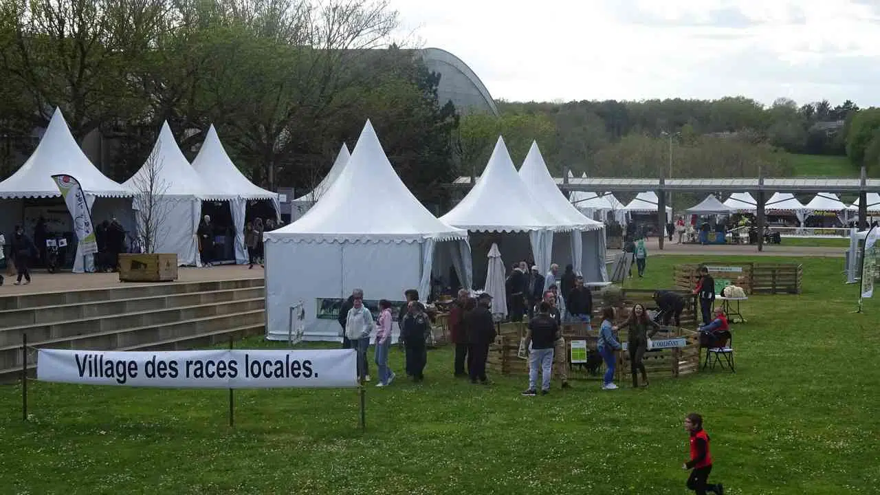
[[[354,349],[40,349],[37,353],[37,380],[164,388],[349,388],[358,385]]]

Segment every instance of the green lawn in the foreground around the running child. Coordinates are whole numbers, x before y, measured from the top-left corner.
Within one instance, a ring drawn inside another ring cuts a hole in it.
[[[740,259],[748,260],[748,257]],[[734,262],[736,257],[725,257]],[[671,285],[655,256],[628,285]],[[0,388],[0,492],[299,494],[684,494],[698,411],[726,493],[875,493],[880,483],[880,302],[852,314],[857,287],[840,262],[803,262],[802,295],[756,296],[736,325],[737,373],[651,380],[648,389],[576,382],[521,397],[523,378],[489,388],[451,377],[451,351],[429,352],[427,380],[370,387],[367,432],[354,390]],[[275,345],[252,339],[241,346]],[[402,354],[392,366],[402,372]],[[375,366],[371,366],[375,373]],[[402,373],[400,373],[402,375]]]

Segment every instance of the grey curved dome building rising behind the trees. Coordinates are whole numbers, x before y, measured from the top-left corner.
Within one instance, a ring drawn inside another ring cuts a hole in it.
[[[460,58],[440,48],[422,48],[420,52],[428,69],[440,74],[437,99],[441,104],[451,100],[462,115],[499,115],[486,85]]]

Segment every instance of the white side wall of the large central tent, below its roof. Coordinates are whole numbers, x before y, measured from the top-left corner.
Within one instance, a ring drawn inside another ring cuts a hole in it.
[[[363,289],[364,299],[403,300],[418,287],[422,247],[418,242],[285,242],[266,247],[266,328],[269,340],[287,340],[290,307],[304,303],[309,341],[339,342],[340,299]],[[319,307],[319,299],[323,301]],[[319,318],[323,308],[326,317]]]

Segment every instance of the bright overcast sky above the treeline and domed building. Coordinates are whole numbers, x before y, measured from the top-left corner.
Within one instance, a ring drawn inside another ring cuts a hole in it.
[[[880,106],[880,0],[390,0],[503,100]]]

